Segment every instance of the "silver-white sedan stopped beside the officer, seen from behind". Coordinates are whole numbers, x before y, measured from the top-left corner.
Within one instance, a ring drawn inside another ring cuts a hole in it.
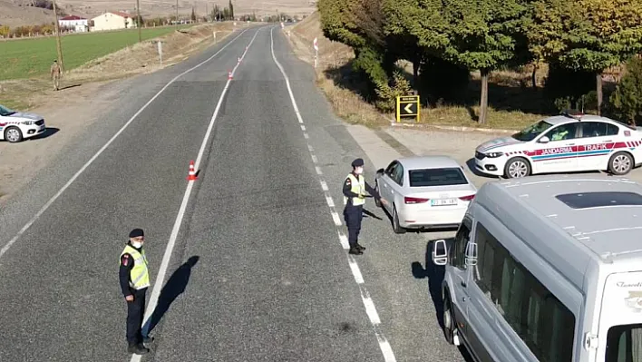
[[[447,156],[418,156],[394,160],[378,170],[375,189],[388,205],[393,230],[456,228],[462,222],[477,188],[462,166]],[[377,206],[382,206],[377,202]]]

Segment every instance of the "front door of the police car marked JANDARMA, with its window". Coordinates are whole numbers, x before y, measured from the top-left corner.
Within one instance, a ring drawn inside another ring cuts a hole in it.
[[[578,171],[579,122],[553,127],[540,136],[533,160],[535,172]]]

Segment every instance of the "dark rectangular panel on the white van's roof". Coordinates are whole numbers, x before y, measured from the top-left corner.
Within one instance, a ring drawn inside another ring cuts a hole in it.
[[[555,198],[573,209],[642,205],[642,195],[635,192],[578,192],[561,194]]]

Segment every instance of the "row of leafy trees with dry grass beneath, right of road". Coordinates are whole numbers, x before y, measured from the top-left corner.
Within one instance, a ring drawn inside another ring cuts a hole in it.
[[[432,124],[519,129],[569,108],[642,122],[640,2],[319,0],[317,7],[291,40],[314,63],[318,38],[318,82],[349,122],[390,122],[396,95],[413,91],[422,122]]]

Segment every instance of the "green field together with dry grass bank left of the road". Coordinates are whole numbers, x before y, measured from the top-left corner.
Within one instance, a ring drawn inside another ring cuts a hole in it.
[[[163,41],[163,66],[176,63],[233,30],[231,22],[182,25],[104,33],[69,34],[61,38],[65,73],[61,87],[118,79],[160,69],[156,44]],[[0,41],[0,104],[28,110],[51,91],[49,67],[57,58],[55,37]]]

